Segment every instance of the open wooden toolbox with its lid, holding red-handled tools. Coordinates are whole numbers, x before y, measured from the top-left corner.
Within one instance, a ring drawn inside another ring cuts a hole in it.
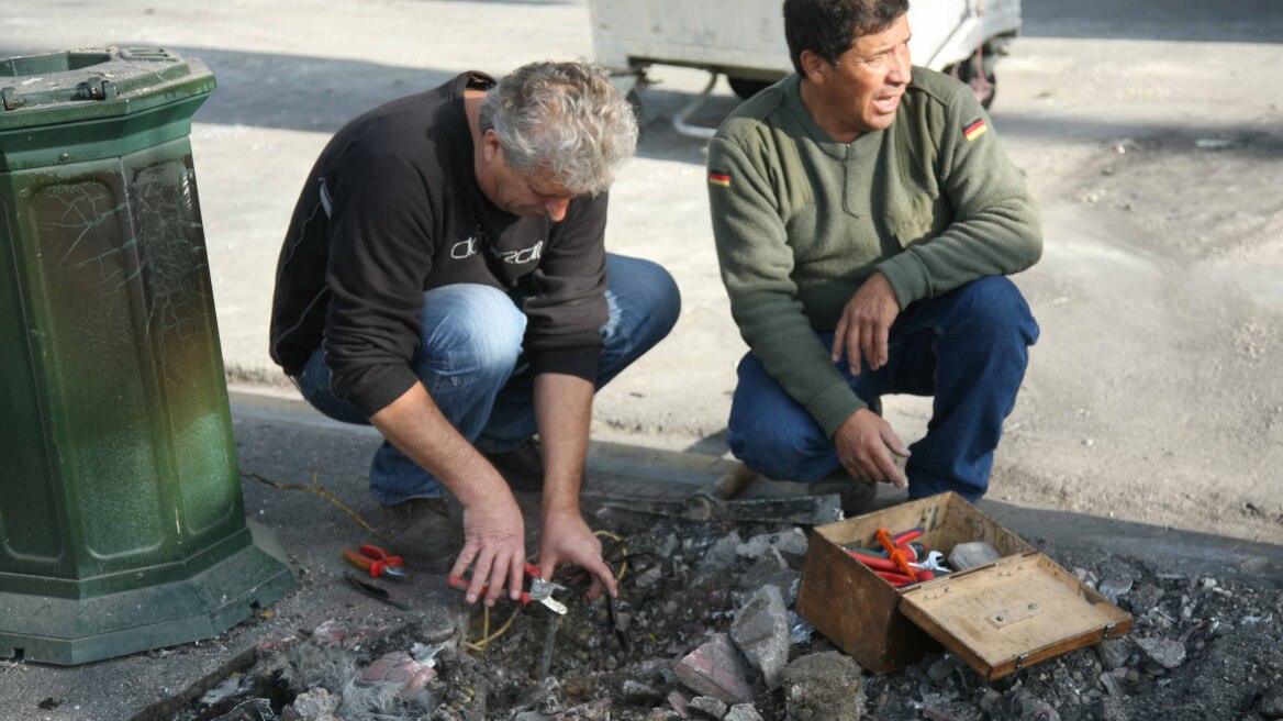
[[[843,548],[878,548],[879,529],[916,527],[916,540],[946,556],[987,541],[1002,558],[897,589]],[[876,674],[939,650],[938,641],[993,680],[1132,629],[1128,613],[953,493],[817,526],[797,609]]]

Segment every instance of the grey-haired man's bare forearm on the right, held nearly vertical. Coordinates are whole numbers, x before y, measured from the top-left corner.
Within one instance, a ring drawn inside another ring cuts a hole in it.
[[[593,384],[577,376],[535,376],[535,418],[544,455],[544,516],[579,513],[593,391]]]

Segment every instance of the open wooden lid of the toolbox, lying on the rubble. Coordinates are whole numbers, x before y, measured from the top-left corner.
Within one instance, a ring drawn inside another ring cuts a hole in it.
[[[1041,553],[912,586],[899,611],[989,680],[1132,627],[1126,612]]]

